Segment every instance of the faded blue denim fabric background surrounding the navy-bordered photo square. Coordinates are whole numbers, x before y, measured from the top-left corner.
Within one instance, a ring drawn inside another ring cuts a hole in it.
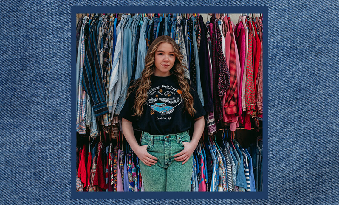
[[[339,204],[339,1],[318,2],[161,3],[269,6],[268,200],[71,200],[71,5],[116,2],[2,2],[0,204]]]

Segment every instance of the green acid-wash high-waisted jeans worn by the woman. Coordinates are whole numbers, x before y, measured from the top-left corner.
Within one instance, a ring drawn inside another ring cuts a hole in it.
[[[143,132],[141,146],[158,158],[158,163],[147,166],[140,161],[140,172],[145,191],[190,191],[193,172],[193,154],[185,164],[174,160],[184,149],[182,142],[190,142],[187,131],[173,135],[150,135]]]

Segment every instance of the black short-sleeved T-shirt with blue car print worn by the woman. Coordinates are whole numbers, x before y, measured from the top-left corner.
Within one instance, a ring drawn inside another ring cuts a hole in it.
[[[182,90],[175,75],[166,77],[152,76],[152,86],[147,91],[146,104],[143,106],[141,117],[132,116],[136,97],[136,90],[128,96],[120,117],[133,123],[136,129],[148,132],[151,135],[177,134],[191,128],[194,119],[206,115],[193,83],[190,93],[193,96],[193,107],[197,111],[194,117],[185,110]],[[189,80],[187,79],[188,83]]]

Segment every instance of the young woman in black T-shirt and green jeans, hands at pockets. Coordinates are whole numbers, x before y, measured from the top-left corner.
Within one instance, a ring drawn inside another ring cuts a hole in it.
[[[145,191],[190,191],[193,151],[204,130],[205,110],[184,78],[183,55],[169,36],[149,46],[141,78],[128,88],[120,112],[122,131],[139,157]],[[192,141],[187,131],[194,123]],[[141,146],[133,125],[143,131]]]

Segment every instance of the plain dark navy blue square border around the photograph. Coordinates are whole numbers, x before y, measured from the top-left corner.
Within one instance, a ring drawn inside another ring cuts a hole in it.
[[[263,14],[263,191],[261,192],[78,192],[76,191],[76,14],[256,13]],[[268,6],[71,6],[71,199],[268,199]],[[74,86],[73,86],[74,84]]]

